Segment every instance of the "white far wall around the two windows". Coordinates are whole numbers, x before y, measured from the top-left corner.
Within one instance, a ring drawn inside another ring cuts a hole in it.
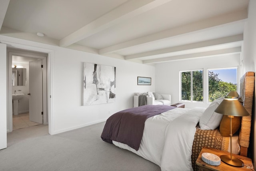
[[[204,102],[180,101],[180,71],[204,70],[204,87],[207,86],[207,70],[214,68],[239,66],[240,55],[224,55],[214,58],[198,58],[156,64],[156,92],[170,93],[172,104],[185,103],[186,108],[208,107],[207,92],[204,91]],[[204,88],[206,90],[206,88]]]

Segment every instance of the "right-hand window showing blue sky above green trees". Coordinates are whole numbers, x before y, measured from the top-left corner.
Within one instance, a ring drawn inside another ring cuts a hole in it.
[[[224,97],[237,90],[237,68],[208,70],[208,101]]]

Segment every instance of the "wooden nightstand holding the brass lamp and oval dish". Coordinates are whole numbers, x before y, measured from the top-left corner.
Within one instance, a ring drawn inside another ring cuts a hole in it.
[[[254,165],[252,164],[252,159],[236,154],[232,154],[233,156],[237,157],[238,159],[242,160],[244,162],[244,167],[234,167],[227,165],[226,163],[222,162],[218,166],[208,165],[204,161],[202,161],[202,153],[212,153],[215,155],[230,155],[230,153],[225,151],[220,151],[213,148],[203,147],[197,160],[196,165],[199,166],[199,171],[254,171]]]

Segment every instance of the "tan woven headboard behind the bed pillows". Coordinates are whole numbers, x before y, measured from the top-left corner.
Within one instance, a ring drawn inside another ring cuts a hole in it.
[[[244,101],[244,108],[250,114],[243,116],[239,132],[240,155],[247,156],[252,123],[252,106],[254,97],[254,72],[246,72],[240,81],[240,96]]]

